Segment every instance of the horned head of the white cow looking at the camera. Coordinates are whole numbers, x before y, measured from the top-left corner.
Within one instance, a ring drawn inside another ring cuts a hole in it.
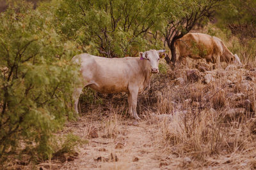
[[[147,52],[140,52],[140,59],[147,60],[150,63],[151,73],[159,73],[159,60],[160,57],[165,57],[164,52],[165,50],[149,50]]]

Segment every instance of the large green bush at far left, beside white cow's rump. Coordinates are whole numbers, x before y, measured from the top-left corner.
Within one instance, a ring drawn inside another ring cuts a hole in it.
[[[0,13],[1,162],[21,154],[18,148],[47,159],[52,132],[74,117],[70,94],[79,74],[68,60],[76,49],[61,41],[47,13],[32,7],[19,1]]]

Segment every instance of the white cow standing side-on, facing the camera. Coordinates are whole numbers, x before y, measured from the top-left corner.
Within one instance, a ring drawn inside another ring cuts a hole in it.
[[[83,85],[74,90],[75,110],[84,87],[101,93],[128,92],[129,114],[138,117],[136,107],[138,93],[149,86],[152,73],[159,73],[159,54],[165,50],[140,52],[140,57],[108,59],[88,53],[73,57],[72,62],[81,64]]]

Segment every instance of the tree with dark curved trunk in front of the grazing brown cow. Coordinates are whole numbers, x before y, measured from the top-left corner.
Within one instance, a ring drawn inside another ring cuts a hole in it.
[[[164,43],[172,52],[172,62],[175,64],[175,41],[187,34],[196,24],[206,23],[220,5],[220,0],[170,0],[162,1],[165,27],[162,34]],[[167,57],[166,62],[170,62]]]

